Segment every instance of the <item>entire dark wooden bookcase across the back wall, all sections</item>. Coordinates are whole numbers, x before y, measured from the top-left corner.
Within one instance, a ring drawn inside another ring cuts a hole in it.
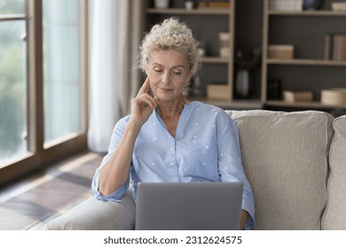
[[[193,96],[208,104],[228,109],[346,109],[346,105],[321,104],[322,89],[346,87],[346,61],[325,58],[325,36],[346,35],[346,12],[331,9],[334,0],[325,0],[318,11],[274,11],[269,9],[270,0],[230,0],[229,8],[185,9],[183,0],[171,0],[168,9],[155,9],[153,0],[145,1],[145,27],[170,16],[177,16],[193,29],[193,35],[206,43],[207,56],[201,58],[202,85],[223,82],[230,86],[227,100]],[[195,1],[198,3],[198,1]],[[231,34],[231,56],[219,56],[219,32]],[[262,46],[261,66],[252,72],[252,93],[246,99],[235,94],[237,67],[233,54],[237,44],[250,48]],[[293,44],[295,56],[290,59],[268,58],[272,44]],[[272,98],[267,90],[269,81],[281,81],[282,90],[313,92],[313,102],[287,103]]]

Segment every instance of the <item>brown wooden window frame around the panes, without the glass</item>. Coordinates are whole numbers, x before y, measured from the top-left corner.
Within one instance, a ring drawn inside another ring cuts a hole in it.
[[[10,183],[35,170],[49,167],[61,159],[87,151],[88,130],[88,1],[81,6],[81,70],[82,133],[75,133],[57,142],[44,144],[43,120],[43,1],[26,0],[26,14],[3,15],[2,19],[25,19],[27,25],[27,123],[28,152],[0,165],[0,185]]]

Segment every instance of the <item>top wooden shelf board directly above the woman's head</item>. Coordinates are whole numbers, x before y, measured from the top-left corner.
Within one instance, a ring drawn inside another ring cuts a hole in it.
[[[155,9],[148,8],[146,12],[149,14],[180,14],[180,15],[228,15],[230,8],[201,8],[186,10],[183,8]]]

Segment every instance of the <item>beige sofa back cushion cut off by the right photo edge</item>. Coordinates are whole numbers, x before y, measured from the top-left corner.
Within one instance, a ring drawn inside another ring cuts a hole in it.
[[[322,229],[346,229],[346,115],[333,123],[334,137],[330,147],[328,201]]]

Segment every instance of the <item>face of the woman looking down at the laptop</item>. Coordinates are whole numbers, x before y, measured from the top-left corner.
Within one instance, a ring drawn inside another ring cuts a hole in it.
[[[165,102],[181,97],[185,84],[191,78],[185,54],[177,50],[155,51],[150,58],[147,75],[153,95]]]

